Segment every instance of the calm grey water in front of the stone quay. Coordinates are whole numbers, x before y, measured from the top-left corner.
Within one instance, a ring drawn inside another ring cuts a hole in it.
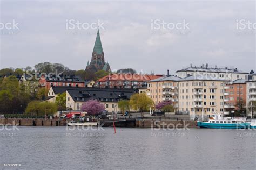
[[[0,169],[255,169],[256,131],[18,127],[0,131]],[[4,164],[17,163],[19,167]]]

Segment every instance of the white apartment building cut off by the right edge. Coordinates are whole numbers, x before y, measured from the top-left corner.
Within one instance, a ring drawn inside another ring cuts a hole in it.
[[[247,117],[255,118],[255,103],[256,103],[256,73],[250,74],[251,79],[246,81],[246,105],[247,105]],[[254,105],[254,107],[251,107]]]

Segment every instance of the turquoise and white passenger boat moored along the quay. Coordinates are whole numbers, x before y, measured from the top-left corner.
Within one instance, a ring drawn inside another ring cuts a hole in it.
[[[197,122],[200,128],[213,128],[213,129],[248,129],[250,122],[241,119],[221,119],[209,120],[208,122]]]

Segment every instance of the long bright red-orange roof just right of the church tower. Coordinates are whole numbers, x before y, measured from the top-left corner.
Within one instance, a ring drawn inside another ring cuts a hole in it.
[[[163,75],[150,75],[150,74],[111,74],[106,75],[105,77],[102,77],[99,79],[99,82],[105,82],[107,80],[109,81],[150,81],[154,79],[158,79],[159,77],[163,77]]]

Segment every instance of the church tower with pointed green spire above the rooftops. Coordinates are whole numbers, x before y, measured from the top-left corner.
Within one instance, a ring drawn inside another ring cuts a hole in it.
[[[102,41],[100,40],[99,29],[95,40],[95,45],[92,51],[91,62],[87,62],[86,71],[97,72],[98,70],[109,71],[110,66],[108,62],[105,62],[104,52],[102,48]]]

